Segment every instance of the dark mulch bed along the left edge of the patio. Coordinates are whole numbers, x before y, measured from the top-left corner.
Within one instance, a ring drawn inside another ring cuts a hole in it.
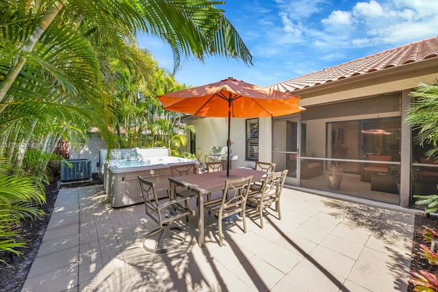
[[[16,256],[12,252],[0,252],[0,259],[8,262],[8,265],[0,263],[0,292],[21,291],[31,265],[38,254],[42,237],[46,232],[60,189],[96,185],[99,183],[101,183],[99,179],[93,176],[93,181],[85,183],[59,185],[58,181],[55,181],[46,186],[47,202],[42,206],[45,215],[35,220],[27,220],[23,223],[23,228],[21,228],[23,239],[29,242],[27,248],[17,248],[23,254]]]

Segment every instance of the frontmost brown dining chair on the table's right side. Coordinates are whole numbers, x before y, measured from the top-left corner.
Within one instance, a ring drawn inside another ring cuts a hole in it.
[[[222,198],[204,203],[204,208],[218,218],[219,245],[223,244],[222,219],[234,214],[241,214],[244,220],[244,233],[246,233],[246,198],[249,185],[253,176],[225,181]]]

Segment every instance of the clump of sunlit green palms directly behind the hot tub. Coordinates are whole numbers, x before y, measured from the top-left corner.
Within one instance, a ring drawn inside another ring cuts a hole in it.
[[[157,62],[147,51],[140,51],[138,59],[144,59],[148,64],[145,70],[129,68],[125,63],[115,60],[110,66],[112,75],[108,87],[114,96],[117,108],[112,129],[118,137],[118,147],[156,147],[166,146],[174,155],[178,148],[185,146],[185,133],[189,126],[181,123],[181,114],[163,110],[157,94],[181,90],[180,85],[170,73],[158,67]]]

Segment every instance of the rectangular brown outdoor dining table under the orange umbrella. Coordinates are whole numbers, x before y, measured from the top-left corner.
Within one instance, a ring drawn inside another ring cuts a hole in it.
[[[174,176],[170,177],[171,185],[179,185],[190,191],[198,194],[198,245],[204,246],[204,196],[211,194],[214,191],[222,191],[225,188],[225,181],[227,179],[244,178],[253,176],[252,182],[263,181],[266,177],[266,172],[260,170],[252,170],[248,168],[237,168],[220,172],[207,172],[204,174],[191,174],[188,176]]]

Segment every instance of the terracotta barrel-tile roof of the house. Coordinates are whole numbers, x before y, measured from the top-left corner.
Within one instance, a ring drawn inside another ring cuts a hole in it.
[[[433,57],[438,57],[438,37],[413,42],[396,49],[376,53],[375,55],[356,59],[331,68],[324,68],[323,70],[268,87],[283,92],[293,92],[294,90],[309,88],[357,75],[365,75],[370,72],[394,68]]]

